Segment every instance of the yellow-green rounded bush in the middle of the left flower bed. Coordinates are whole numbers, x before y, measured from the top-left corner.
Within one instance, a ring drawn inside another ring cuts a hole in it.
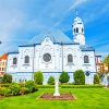
[[[9,88],[11,89],[13,96],[20,95],[21,87],[17,83],[12,83]]]

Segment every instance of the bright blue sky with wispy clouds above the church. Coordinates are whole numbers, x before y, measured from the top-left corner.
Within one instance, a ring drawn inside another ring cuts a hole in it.
[[[108,0],[0,0],[0,55],[46,29],[61,29],[73,38],[75,10],[85,25],[86,44],[109,53]]]

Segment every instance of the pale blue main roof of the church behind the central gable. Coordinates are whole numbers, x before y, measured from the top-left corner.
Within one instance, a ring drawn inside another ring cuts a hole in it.
[[[39,35],[35,36],[28,44],[41,44],[46,37],[49,37],[52,43],[63,43],[63,44],[72,44],[73,40],[69,38],[61,31],[48,31],[43,32]]]

